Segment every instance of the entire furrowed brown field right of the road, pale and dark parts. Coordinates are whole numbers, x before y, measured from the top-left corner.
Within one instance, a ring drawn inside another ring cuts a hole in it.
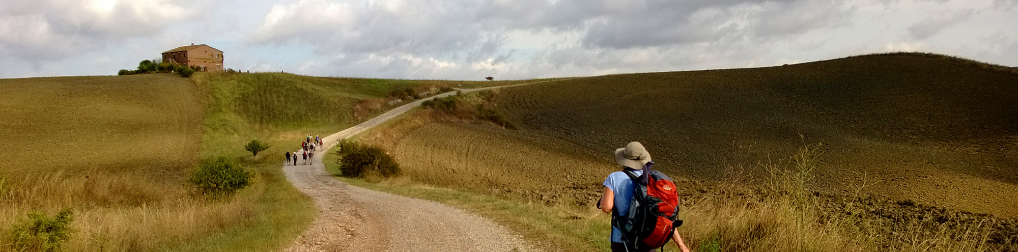
[[[818,223],[851,222],[879,244],[861,250],[922,251],[956,231],[968,238],[946,240],[1016,250],[1015,101],[1014,71],[924,54],[619,74],[508,87],[497,105],[520,130],[425,123],[391,134],[392,150],[416,181],[590,207],[618,170],[613,150],[635,140],[702,208],[780,197],[768,168],[818,145],[810,205]]]

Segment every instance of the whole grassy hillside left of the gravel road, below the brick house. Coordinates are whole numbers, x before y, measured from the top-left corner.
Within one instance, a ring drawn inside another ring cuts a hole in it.
[[[199,73],[0,79],[0,251],[29,212],[69,208],[68,251],[264,251],[315,214],[286,182],[282,153],[399,104],[393,94],[512,81]],[[434,88],[433,88],[434,87]],[[273,145],[257,158],[243,144]],[[278,154],[277,154],[278,153]],[[204,158],[238,159],[256,184],[233,199],[193,196]]]

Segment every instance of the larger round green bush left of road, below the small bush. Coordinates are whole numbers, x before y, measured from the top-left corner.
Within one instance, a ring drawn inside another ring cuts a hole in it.
[[[220,156],[204,160],[191,171],[190,182],[200,193],[214,198],[230,196],[251,184],[254,174],[235,161]]]

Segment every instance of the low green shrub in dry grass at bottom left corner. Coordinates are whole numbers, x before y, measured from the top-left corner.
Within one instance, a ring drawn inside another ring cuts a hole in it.
[[[67,226],[73,219],[70,209],[61,210],[52,219],[46,213],[29,213],[29,219],[11,230],[8,246],[14,251],[60,251],[60,246],[70,238]]]

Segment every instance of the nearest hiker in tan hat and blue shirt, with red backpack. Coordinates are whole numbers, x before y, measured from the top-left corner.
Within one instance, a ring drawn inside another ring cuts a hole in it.
[[[675,183],[651,169],[654,162],[643,144],[634,141],[616,149],[615,162],[623,170],[608,175],[598,201],[598,208],[612,214],[612,251],[654,251],[674,240],[689,252],[675,230],[682,225]]]

